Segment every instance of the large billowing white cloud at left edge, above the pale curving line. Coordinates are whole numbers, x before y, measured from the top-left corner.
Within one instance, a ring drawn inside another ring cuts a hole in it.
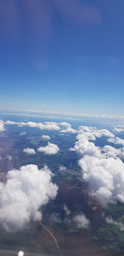
[[[39,170],[27,165],[7,172],[6,183],[0,183],[0,223],[4,229],[25,228],[31,220],[41,220],[41,206],[54,199],[58,187],[51,181],[48,167]]]

